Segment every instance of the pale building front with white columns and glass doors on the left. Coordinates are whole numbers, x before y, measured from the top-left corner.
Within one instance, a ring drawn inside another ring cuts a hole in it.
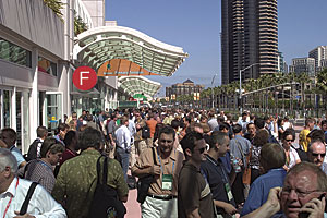
[[[1,1],[0,128],[17,132],[16,145],[23,154],[36,138],[37,126],[53,133],[72,110],[81,114],[82,109],[105,109],[117,102],[114,77],[101,78],[92,92],[74,88],[74,16],[89,28],[96,25],[88,11],[93,8],[82,0],[62,3],[61,20],[43,0]]]

